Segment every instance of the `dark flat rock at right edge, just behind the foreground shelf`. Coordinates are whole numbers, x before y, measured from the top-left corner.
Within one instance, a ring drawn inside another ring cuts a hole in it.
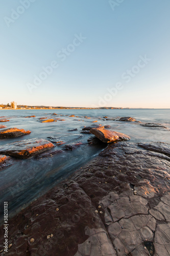
[[[170,143],[165,143],[165,142],[138,143],[138,146],[143,147],[146,150],[162,153],[170,157]]]

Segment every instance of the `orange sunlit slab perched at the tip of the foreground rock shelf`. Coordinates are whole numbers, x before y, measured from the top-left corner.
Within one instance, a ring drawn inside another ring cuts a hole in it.
[[[100,139],[101,141],[103,141],[105,143],[110,143],[110,142],[120,140],[120,139],[125,139],[125,140],[130,139],[130,137],[126,134],[118,133],[118,132],[114,132],[114,131],[108,131],[105,129],[92,128],[90,130],[90,133],[94,134],[95,137],[97,137],[98,139]]]

